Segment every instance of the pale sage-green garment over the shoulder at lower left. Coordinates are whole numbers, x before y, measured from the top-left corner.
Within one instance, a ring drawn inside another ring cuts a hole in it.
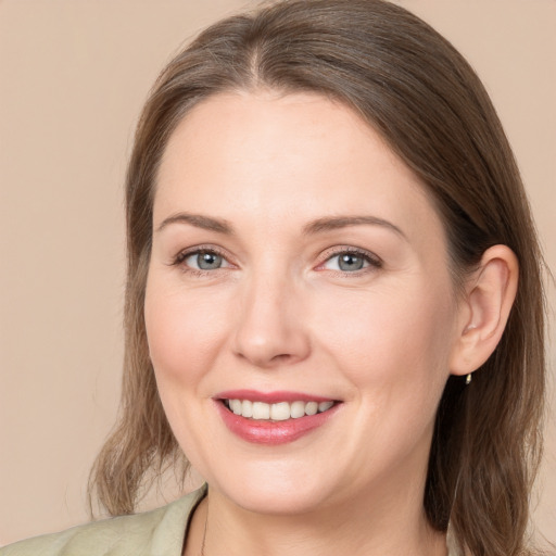
[[[179,556],[192,510],[205,489],[167,506],[121,516],[0,548],[0,556]]]

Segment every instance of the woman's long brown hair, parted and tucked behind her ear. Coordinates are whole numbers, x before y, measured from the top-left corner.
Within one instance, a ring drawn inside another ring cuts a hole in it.
[[[355,110],[426,185],[448,237],[456,285],[491,245],[517,255],[519,288],[497,349],[440,402],[425,508],[475,556],[523,554],[541,455],[542,255],[508,141],[479,78],[437,31],[382,0],[293,0],[232,16],[163,71],[127,175],[128,270],[122,414],[91,475],[111,514],[131,513],[146,473],[175,464],[149,361],[143,301],[156,172],[198,102],[229,90],[315,91]]]

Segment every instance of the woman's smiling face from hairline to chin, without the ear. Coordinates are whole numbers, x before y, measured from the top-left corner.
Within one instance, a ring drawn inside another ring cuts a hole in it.
[[[446,241],[345,106],[229,93],[186,116],[157,177],[146,323],[173,431],[228,500],[422,500],[460,327]]]

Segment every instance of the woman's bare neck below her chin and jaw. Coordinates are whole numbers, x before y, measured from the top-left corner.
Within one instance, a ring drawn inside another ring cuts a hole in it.
[[[319,508],[298,515],[255,514],[210,489],[193,516],[186,556],[445,556],[445,535],[433,531],[422,500]],[[415,503],[414,503],[415,502]],[[369,507],[371,506],[371,507]]]

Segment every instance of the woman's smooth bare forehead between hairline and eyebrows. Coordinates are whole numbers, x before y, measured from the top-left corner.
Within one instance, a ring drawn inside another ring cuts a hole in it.
[[[364,211],[442,232],[424,186],[382,138],[345,105],[314,93],[201,102],[172,135],[156,189],[155,223],[188,211],[283,227]]]

